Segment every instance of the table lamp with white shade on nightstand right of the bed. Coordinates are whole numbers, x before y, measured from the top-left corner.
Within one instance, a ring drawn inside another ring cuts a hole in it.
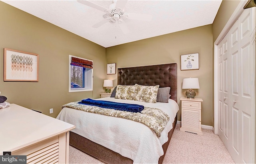
[[[186,91],[187,98],[195,98],[196,92],[192,89],[199,89],[198,78],[184,78],[182,82],[182,89],[188,89]]]

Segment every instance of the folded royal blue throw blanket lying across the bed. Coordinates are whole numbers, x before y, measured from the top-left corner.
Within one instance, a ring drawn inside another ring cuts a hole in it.
[[[124,110],[128,112],[141,112],[144,109],[144,106],[138,104],[126,104],[120,102],[111,102],[111,101],[103,101],[103,100],[92,100],[90,98],[84,99],[78,104],[92,105],[98,106],[101,108],[109,108],[115,110]]]

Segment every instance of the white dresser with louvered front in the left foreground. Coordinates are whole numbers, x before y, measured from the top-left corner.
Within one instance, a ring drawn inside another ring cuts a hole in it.
[[[69,131],[75,126],[10,104],[0,110],[0,155],[26,155],[27,163],[68,163]]]

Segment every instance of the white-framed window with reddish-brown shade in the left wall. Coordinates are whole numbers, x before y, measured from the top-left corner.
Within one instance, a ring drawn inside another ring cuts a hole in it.
[[[93,61],[69,55],[69,92],[92,90]]]

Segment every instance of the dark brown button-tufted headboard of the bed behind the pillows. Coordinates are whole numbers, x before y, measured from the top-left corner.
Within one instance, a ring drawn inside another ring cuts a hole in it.
[[[117,84],[171,87],[170,98],[177,102],[177,63],[118,68]]]

